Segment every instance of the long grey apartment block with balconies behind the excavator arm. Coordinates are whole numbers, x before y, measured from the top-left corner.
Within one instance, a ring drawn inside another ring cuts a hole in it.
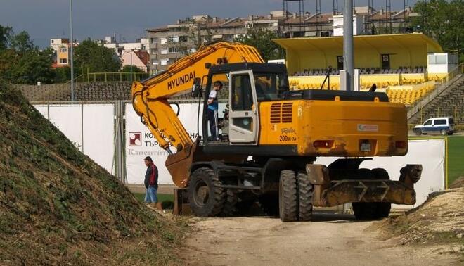
[[[355,34],[411,32],[406,21],[410,8],[401,11],[376,11],[371,6],[354,8]],[[269,15],[249,15],[247,18],[217,18],[193,15],[175,24],[147,30],[150,72],[165,70],[179,58],[193,53],[201,44],[216,40],[233,42],[252,29],[276,32],[281,37],[330,37],[343,34],[343,14],[271,11]]]

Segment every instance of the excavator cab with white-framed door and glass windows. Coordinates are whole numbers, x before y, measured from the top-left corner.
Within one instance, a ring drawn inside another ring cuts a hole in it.
[[[265,63],[232,63],[210,68],[205,87],[203,113],[207,113],[207,95],[214,82],[223,87],[219,94],[227,96],[227,118],[219,123],[219,140],[212,138],[207,115],[203,115],[205,146],[257,146],[259,140],[259,103],[283,99],[288,91],[285,65]]]

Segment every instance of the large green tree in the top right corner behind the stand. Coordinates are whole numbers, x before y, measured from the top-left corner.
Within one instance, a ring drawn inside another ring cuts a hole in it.
[[[458,52],[462,58],[464,43],[464,1],[418,1],[414,12],[421,16],[412,25],[436,39],[444,51]]]

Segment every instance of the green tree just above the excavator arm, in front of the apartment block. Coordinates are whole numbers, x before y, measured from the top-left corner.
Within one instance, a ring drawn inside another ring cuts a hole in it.
[[[278,38],[278,34],[270,30],[252,29],[247,34],[236,38],[235,41],[256,47],[264,61],[268,61],[285,58],[285,50],[272,42],[272,39],[276,38]]]

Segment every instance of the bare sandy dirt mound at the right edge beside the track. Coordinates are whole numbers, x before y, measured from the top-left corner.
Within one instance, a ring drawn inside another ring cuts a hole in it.
[[[464,188],[434,192],[423,205],[377,224],[398,243],[444,244],[464,255]]]

